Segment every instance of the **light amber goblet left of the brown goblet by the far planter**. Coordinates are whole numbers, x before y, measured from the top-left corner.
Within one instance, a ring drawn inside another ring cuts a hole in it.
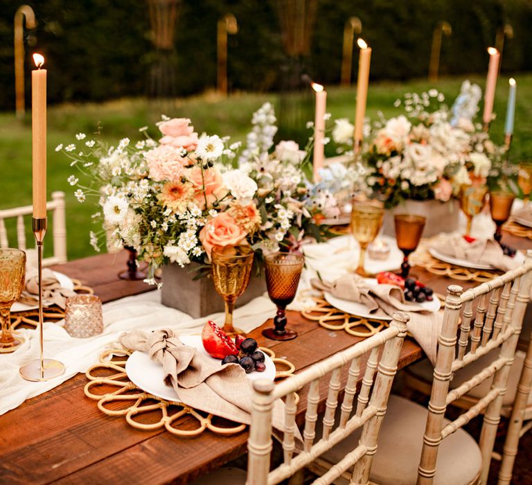
[[[351,232],[360,245],[360,256],[356,273],[361,276],[369,276],[364,270],[366,249],[377,237],[382,227],[383,218],[384,209],[382,207],[367,202],[355,202],[353,204],[351,211]]]

